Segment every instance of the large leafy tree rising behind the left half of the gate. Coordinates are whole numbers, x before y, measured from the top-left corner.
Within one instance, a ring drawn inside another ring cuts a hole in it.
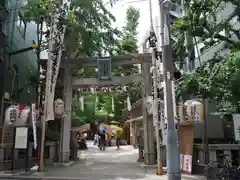
[[[50,0],[28,0],[25,6],[27,20],[37,24],[39,52],[48,45],[49,20],[55,13],[56,6]],[[116,53],[120,32],[112,28],[113,21],[115,17],[105,8],[102,0],[71,1],[68,19],[64,22],[67,26],[64,38],[66,49],[62,58],[74,60],[79,56],[101,56],[102,52]],[[46,25],[44,29],[43,24]],[[42,41],[43,36],[46,42]],[[79,70],[77,70],[78,73]],[[81,73],[82,69],[80,69],[80,75]],[[90,73],[93,73],[93,70],[90,70]],[[88,122],[94,117],[93,109],[90,105],[86,105],[84,112],[74,109],[73,119],[78,119],[76,122],[79,123]]]

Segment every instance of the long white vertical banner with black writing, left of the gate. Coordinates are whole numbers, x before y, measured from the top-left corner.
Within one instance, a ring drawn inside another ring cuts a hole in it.
[[[45,120],[54,120],[54,97],[55,87],[57,83],[60,63],[62,59],[62,44],[64,42],[64,36],[66,26],[60,24],[59,19],[67,19],[68,8],[70,7],[70,1],[63,1],[61,4],[61,11],[54,15],[52,20],[52,28],[50,29],[50,41],[48,49],[48,66],[47,66],[47,78],[46,78],[46,95],[45,95]],[[62,27],[62,28],[61,28]],[[56,38],[58,37],[58,38]],[[60,46],[60,47],[59,47]],[[52,52],[57,50],[57,55]],[[54,62],[53,62],[54,61]],[[70,72],[71,73],[71,72]]]

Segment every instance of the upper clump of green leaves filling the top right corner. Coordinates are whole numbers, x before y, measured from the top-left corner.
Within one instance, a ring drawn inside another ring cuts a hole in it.
[[[236,16],[240,13],[239,6],[240,1],[237,0],[191,0],[184,2],[184,16],[176,20],[172,26],[172,34],[177,39],[173,47],[174,58],[175,61],[180,62],[180,67],[188,56],[185,35],[195,38],[196,44],[204,43],[206,48],[221,41],[231,48],[240,49],[239,29],[232,24],[233,20],[237,21],[236,23],[240,22],[240,19],[236,20]],[[231,10],[232,13],[230,13]],[[229,16],[226,12],[229,12]],[[232,39],[232,35],[235,35],[235,40]]]

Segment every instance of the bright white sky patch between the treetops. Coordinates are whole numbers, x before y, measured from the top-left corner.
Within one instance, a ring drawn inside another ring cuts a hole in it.
[[[105,0],[106,3],[109,0]],[[146,39],[150,29],[150,8],[149,0],[118,0],[113,7],[109,4],[106,5],[108,10],[115,16],[116,22],[113,24],[114,27],[122,28],[124,26],[126,10],[129,6],[133,6],[140,11],[140,19],[138,26],[138,45]],[[157,16],[159,13],[158,0],[152,0],[152,12],[153,12],[153,23],[156,24]],[[157,23],[159,24],[159,23]],[[156,32],[157,33],[157,32]]]

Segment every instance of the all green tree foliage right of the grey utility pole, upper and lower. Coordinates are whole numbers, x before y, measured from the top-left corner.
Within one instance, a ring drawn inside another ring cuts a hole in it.
[[[208,1],[184,1],[185,15],[179,18],[172,27],[174,36],[178,39],[175,44],[177,60],[183,64],[185,57],[188,56],[185,46],[185,34],[195,39],[194,43],[204,43],[205,49],[214,46],[217,43],[225,43],[226,47],[233,52],[240,49],[240,33],[237,28],[239,24],[239,5],[240,2],[236,0],[208,0]],[[220,16],[221,11],[228,6],[232,12],[229,16],[224,18]],[[225,32],[225,33],[223,33]],[[232,37],[235,37],[235,40]],[[185,94],[192,96],[201,96],[204,98],[215,99],[222,102],[223,99],[219,97],[229,97],[224,87],[220,84],[226,84],[227,74],[235,68],[226,66],[225,61],[232,59],[232,56],[226,58],[219,56],[217,53],[214,58],[208,62],[204,62],[195,72],[186,74],[182,78],[182,82],[178,88]],[[220,68],[220,66],[222,66]],[[220,69],[226,68],[225,75],[220,75]],[[231,70],[230,70],[231,69]],[[221,77],[221,78],[220,78]],[[227,89],[225,87],[225,89]],[[231,90],[227,90],[231,92]],[[224,100],[230,101],[230,100]],[[236,104],[236,103],[234,103]]]

